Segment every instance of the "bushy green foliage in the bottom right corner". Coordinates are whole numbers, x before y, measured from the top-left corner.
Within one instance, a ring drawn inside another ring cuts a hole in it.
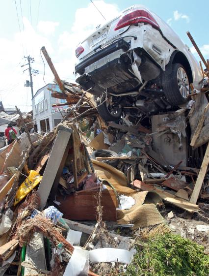
[[[120,276],[209,276],[204,247],[179,235],[157,235],[136,245],[137,253]]]

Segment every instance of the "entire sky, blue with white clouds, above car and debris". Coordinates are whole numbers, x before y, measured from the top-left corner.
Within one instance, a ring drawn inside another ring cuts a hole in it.
[[[40,71],[33,77],[34,92],[45,82],[53,81],[46,62],[44,70],[41,46],[46,46],[60,77],[70,81],[74,78],[77,43],[104,19],[90,0],[16,0],[20,32],[15,0],[0,0],[0,3],[0,99],[4,106],[17,104],[22,111],[29,111],[30,89],[24,87],[28,73],[23,74],[26,66],[20,67],[25,62],[24,55],[34,57],[33,68]],[[186,35],[186,31],[190,31],[205,58],[209,58],[209,20],[203,16],[204,10],[209,10],[209,1],[202,5],[197,0],[94,0],[94,3],[106,19],[111,19],[134,3],[143,4],[171,25],[183,42],[192,48]],[[194,49],[191,50],[199,61]]]

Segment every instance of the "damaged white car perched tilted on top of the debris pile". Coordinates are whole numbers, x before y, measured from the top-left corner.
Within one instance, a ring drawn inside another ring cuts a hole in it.
[[[106,121],[122,112],[139,116],[176,107],[187,101],[190,84],[201,88],[202,73],[188,46],[141,5],[99,26],[79,44],[76,56],[76,82],[92,88]]]

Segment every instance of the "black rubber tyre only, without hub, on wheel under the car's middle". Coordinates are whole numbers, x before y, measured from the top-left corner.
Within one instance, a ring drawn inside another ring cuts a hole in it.
[[[97,111],[99,115],[104,119],[106,122],[113,122],[116,121],[121,117],[122,108],[118,110],[117,113],[113,114],[108,109],[107,101],[104,101],[105,97],[101,97],[100,101],[97,101]],[[103,102],[104,101],[104,102]],[[102,103],[102,104],[101,104]]]

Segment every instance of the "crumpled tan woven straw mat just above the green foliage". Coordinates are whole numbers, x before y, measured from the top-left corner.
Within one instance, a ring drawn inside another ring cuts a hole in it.
[[[156,204],[161,203],[162,200],[156,192],[138,192],[133,194],[132,197],[135,199],[135,204],[131,209],[117,211],[118,224],[134,223],[133,229],[137,229],[165,223],[157,210]]]

